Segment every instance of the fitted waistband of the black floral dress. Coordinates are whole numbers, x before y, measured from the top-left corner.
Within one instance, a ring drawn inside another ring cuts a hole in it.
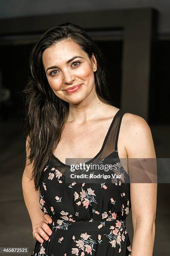
[[[122,220],[100,220],[100,221],[70,221],[60,220],[57,217],[52,218],[52,223],[48,224],[53,230],[77,230],[77,231],[95,231],[95,230],[108,230],[125,228],[126,219]]]

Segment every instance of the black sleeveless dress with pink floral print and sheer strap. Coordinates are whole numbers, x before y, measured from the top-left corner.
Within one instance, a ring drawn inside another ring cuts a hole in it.
[[[102,148],[92,160],[114,159],[116,174],[98,182],[73,179],[66,182],[70,165],[54,155],[40,178],[40,208],[52,218],[49,240],[36,241],[31,256],[130,256],[126,219],[131,208],[129,176],[117,151],[122,116],[118,110]],[[109,172],[107,172],[108,174]],[[94,174],[94,172],[93,172]],[[120,175],[121,174],[121,175]],[[87,182],[86,182],[87,181]]]

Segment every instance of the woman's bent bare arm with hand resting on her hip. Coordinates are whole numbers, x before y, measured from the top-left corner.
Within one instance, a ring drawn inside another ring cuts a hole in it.
[[[33,179],[30,181],[31,173],[32,173],[32,164],[28,164],[28,141],[26,141],[26,153],[27,153],[27,161],[25,165],[25,169],[22,177],[22,188],[23,188],[23,197],[25,201],[25,205],[27,207],[28,213],[30,215],[31,223],[32,223],[32,234],[33,238],[37,239],[39,242],[43,242],[43,238],[47,236],[44,230],[50,231],[49,226],[45,223],[44,213],[40,209],[39,205],[39,196],[40,191],[35,191],[35,184]],[[44,230],[43,230],[44,229]],[[39,235],[41,234],[41,236]],[[50,234],[49,234],[50,235]],[[47,236],[48,240],[49,237]]]

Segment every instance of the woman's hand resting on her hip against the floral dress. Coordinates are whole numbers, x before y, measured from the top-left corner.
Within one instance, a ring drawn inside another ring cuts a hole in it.
[[[52,230],[47,225],[47,223],[52,223],[52,218],[48,215],[44,215],[44,220],[40,222],[40,224],[35,225],[35,227],[32,228],[32,235],[33,238],[40,243],[43,243],[44,238],[46,241],[49,239],[49,236],[52,234]]]

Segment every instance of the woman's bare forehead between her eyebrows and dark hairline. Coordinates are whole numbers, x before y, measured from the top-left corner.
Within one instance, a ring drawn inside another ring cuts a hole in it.
[[[74,41],[62,40],[45,49],[42,54],[42,62],[45,66],[54,64],[54,61],[56,64],[61,61],[65,63],[76,55],[85,57],[86,53]]]

